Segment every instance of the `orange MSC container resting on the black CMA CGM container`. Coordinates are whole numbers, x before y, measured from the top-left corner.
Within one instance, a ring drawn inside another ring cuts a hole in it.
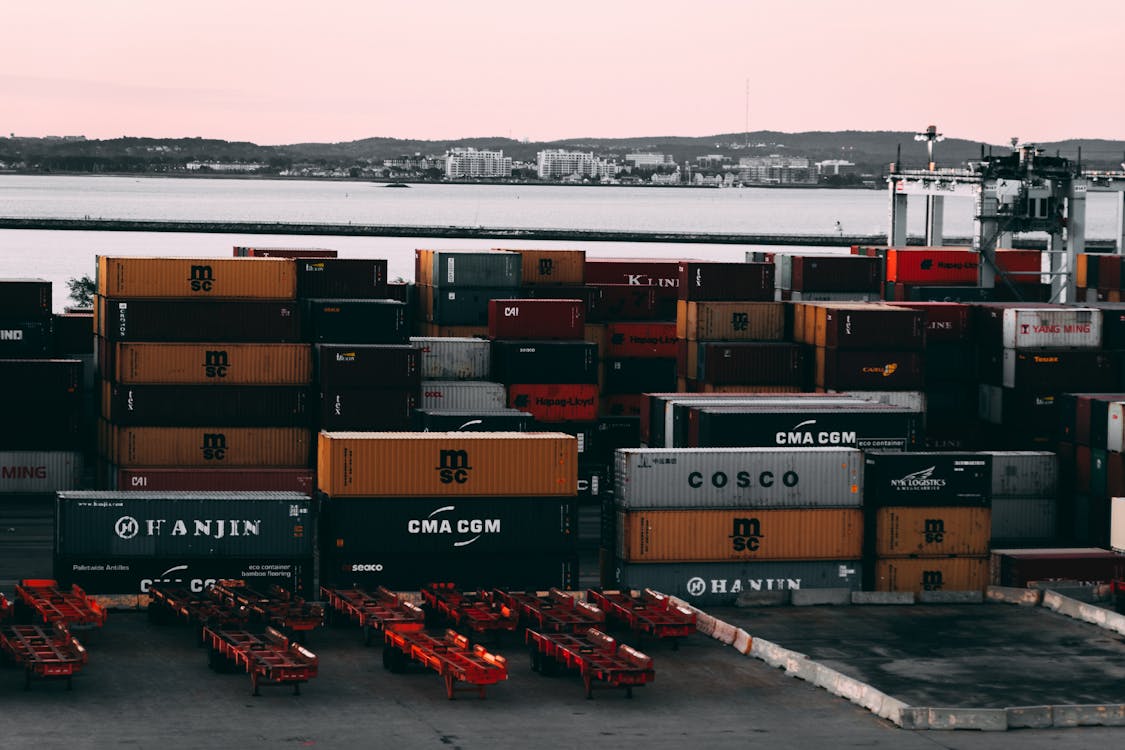
[[[316,464],[330,497],[578,491],[578,441],[562,433],[322,432]]]

